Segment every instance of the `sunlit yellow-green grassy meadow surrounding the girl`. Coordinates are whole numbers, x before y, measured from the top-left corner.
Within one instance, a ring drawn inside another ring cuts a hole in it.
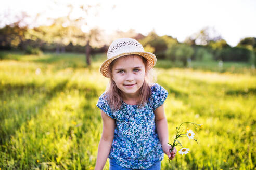
[[[0,169],[94,169],[102,132],[96,103],[108,83],[99,73],[105,55],[95,55],[91,67],[84,54],[1,55]],[[182,122],[203,124],[200,130],[183,126],[199,142],[183,138],[190,152],[170,162],[164,156],[162,169],[255,169],[255,69],[191,64],[171,68],[159,60],[155,68],[157,83],[169,92],[170,143]]]

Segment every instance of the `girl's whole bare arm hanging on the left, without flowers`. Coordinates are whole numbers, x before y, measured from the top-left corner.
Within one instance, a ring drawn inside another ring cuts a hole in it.
[[[114,119],[109,117],[104,111],[101,110],[101,117],[103,119],[103,132],[99,141],[98,155],[95,165],[95,170],[101,170],[107,161],[112,141],[114,138]]]

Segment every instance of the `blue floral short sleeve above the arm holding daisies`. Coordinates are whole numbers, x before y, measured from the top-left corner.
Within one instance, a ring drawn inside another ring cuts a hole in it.
[[[162,86],[159,84],[155,83],[151,87],[152,91],[152,101],[153,101],[153,110],[155,111],[159,106],[162,106],[164,103],[165,99],[168,96],[167,90],[165,90]]]

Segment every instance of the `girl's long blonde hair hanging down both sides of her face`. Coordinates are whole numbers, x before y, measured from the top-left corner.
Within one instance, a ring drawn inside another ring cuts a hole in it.
[[[131,55],[125,55],[122,57],[131,56]],[[140,55],[136,55],[140,56]],[[151,79],[148,78],[149,76],[149,67],[148,67],[148,61],[144,57],[140,56],[142,58],[142,61],[145,65],[145,80],[142,84],[142,87],[139,89],[139,97],[138,97],[138,107],[143,107],[145,103],[148,101],[150,95],[151,95]],[[121,108],[121,105],[123,103],[123,93],[122,91],[117,87],[116,83],[114,83],[112,78],[112,67],[115,61],[111,62],[109,65],[109,73],[110,73],[110,80],[109,80],[109,86],[107,87],[106,96],[107,96],[107,102],[110,105],[110,108],[113,111],[117,111]]]

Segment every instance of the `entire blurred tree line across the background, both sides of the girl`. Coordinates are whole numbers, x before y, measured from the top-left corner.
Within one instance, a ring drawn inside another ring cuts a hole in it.
[[[145,47],[145,51],[155,53],[158,59],[180,61],[184,66],[189,60],[250,62],[256,65],[255,37],[241,39],[236,47],[231,47],[221,36],[210,37],[209,30],[206,27],[183,43],[172,36],[158,36],[153,31],[147,36],[134,32],[121,36],[137,39]],[[108,44],[101,40],[101,36],[98,29],[85,33],[75,26],[63,26],[61,18],[52,25],[33,29],[21,27],[19,22],[15,22],[0,29],[0,50],[19,49],[28,54],[45,51],[81,52],[86,53],[89,65],[92,53],[103,53],[108,49]]]

